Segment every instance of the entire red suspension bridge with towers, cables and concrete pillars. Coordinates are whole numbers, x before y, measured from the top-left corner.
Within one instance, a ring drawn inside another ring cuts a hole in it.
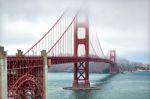
[[[66,13],[25,53],[18,50],[15,56],[9,56],[4,47],[0,47],[1,75],[5,75],[6,80],[2,81],[2,86],[7,91],[2,97],[47,99],[47,73],[54,64],[73,63],[72,89],[91,88],[89,62],[109,63],[109,72],[118,72],[116,51],[111,50],[106,57],[99,40],[96,43],[90,39],[87,16],[80,21],[80,13],[77,12],[69,21]],[[79,36],[81,33],[84,35],[82,38]],[[93,43],[97,44],[97,49]]]

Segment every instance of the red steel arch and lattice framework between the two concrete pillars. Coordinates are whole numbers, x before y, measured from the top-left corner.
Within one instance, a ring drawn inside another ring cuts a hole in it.
[[[44,99],[42,57],[7,57],[8,98]]]

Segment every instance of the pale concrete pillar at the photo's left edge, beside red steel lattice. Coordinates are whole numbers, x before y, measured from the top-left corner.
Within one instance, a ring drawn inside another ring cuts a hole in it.
[[[7,99],[7,53],[0,47],[0,99]]]

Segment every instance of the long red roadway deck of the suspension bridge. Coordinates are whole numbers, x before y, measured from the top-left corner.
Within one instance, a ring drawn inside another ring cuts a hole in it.
[[[25,64],[26,62],[31,62],[31,63],[39,63],[43,61],[42,56],[8,56],[7,57],[7,62],[13,62],[14,64],[17,63],[23,63]],[[115,63],[108,60],[108,59],[103,59],[103,58],[94,58],[94,57],[47,57],[48,61],[48,66],[50,67],[53,64],[65,64],[65,63],[77,63],[77,62],[105,62],[114,65]],[[16,65],[17,66],[17,65]],[[31,64],[30,64],[31,66]],[[35,66],[35,65],[34,65]]]

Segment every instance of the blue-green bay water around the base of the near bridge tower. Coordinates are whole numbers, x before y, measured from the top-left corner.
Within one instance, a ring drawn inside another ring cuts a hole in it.
[[[150,99],[150,72],[129,72],[113,76],[91,73],[91,85],[100,90],[62,89],[71,86],[72,80],[73,73],[49,73],[48,99]]]

